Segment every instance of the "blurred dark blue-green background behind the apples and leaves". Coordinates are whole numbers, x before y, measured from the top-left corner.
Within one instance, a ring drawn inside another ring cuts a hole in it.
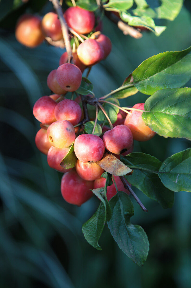
[[[52,9],[50,3],[42,8],[45,2],[30,1],[30,7],[44,15]],[[2,17],[3,1],[1,4]],[[174,22],[166,22],[167,29],[158,38],[147,32],[139,40],[124,36],[104,19],[103,33],[110,37],[113,49],[90,72],[97,97],[118,88],[146,58],[190,46],[190,1],[185,4]],[[122,253],[107,225],[100,238],[102,251],[93,249],[83,238],[81,226],[99,201],[93,197],[81,207],[65,202],[60,192],[61,173],[48,166],[46,156],[34,143],[39,123],[32,108],[39,97],[50,95],[46,78],[58,67],[63,50],[46,43],[35,49],[18,43],[14,25],[23,11],[21,7],[0,22],[0,288],[190,287],[188,192],[176,193],[174,207],[164,210],[134,189],[149,210],[144,213],[132,199],[132,223],[144,228],[150,242],[143,267]],[[185,86],[191,87],[191,81]],[[132,106],[146,99],[137,93],[121,104]],[[185,139],[158,135],[147,143],[135,143],[135,151],[160,160],[188,147],[190,142]]]

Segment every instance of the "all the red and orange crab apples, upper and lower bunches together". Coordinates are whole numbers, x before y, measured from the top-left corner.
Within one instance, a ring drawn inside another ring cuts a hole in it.
[[[120,154],[125,156],[133,151],[133,140],[147,141],[155,132],[145,125],[141,117],[144,103],[135,104],[128,114],[120,110],[114,128],[103,126],[100,136],[84,132],[85,111],[80,106],[81,98],[70,100],[64,95],[78,90],[83,71],[105,59],[112,44],[106,35],[96,32],[97,20],[93,12],[69,7],[63,16],[72,29],[69,29],[70,37],[78,33],[81,40],[72,51],[73,63],[68,63],[68,53],[65,52],[59,67],[49,73],[47,86],[54,94],[42,96],[34,104],[33,114],[42,127],[36,134],[35,143],[47,155],[48,165],[64,173],[61,180],[63,198],[80,206],[93,196],[91,190],[104,187],[106,183],[106,179],[101,177],[104,170],[96,163],[103,158],[105,151],[120,159]],[[28,47],[36,47],[44,37],[50,37],[52,41],[63,39],[60,21],[54,12],[49,12],[42,20],[38,16],[23,15],[17,23],[15,36]],[[91,98],[89,95],[86,97]],[[77,158],[75,167],[63,168],[61,162],[71,145]],[[117,193],[115,184],[118,190],[129,194],[120,177],[114,176],[114,180],[115,183],[107,188],[108,200]]]

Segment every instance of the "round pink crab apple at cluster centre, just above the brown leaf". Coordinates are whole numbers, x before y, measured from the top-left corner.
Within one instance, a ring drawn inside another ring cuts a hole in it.
[[[104,142],[97,135],[82,134],[74,141],[74,152],[81,162],[100,161],[104,155],[104,151]]]

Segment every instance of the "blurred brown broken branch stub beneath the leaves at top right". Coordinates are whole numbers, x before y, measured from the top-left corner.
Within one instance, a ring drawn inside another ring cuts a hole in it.
[[[110,19],[118,26],[118,28],[123,32],[124,35],[130,35],[131,37],[136,39],[139,39],[143,36],[141,32],[139,32],[137,29],[133,28],[132,26],[129,26],[128,24],[120,20],[112,12],[105,10],[105,15],[108,19]]]

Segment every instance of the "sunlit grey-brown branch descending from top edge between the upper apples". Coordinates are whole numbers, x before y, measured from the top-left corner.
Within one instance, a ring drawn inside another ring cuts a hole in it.
[[[66,51],[68,54],[68,63],[70,63],[70,60],[72,58],[72,49],[70,46],[68,26],[67,26],[67,23],[66,23],[64,16],[63,16],[62,7],[59,4],[59,0],[50,0],[50,2],[52,2],[52,5],[54,6],[54,9],[56,10],[56,13],[58,14],[58,18],[60,20],[62,34],[63,34],[63,38],[64,38],[64,43],[65,43]]]

